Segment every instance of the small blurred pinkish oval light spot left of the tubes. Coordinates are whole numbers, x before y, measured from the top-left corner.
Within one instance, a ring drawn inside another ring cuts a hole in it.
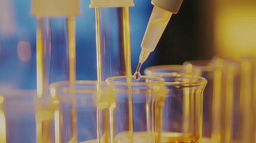
[[[18,58],[21,61],[29,61],[31,58],[31,47],[29,42],[20,41],[17,46]]]

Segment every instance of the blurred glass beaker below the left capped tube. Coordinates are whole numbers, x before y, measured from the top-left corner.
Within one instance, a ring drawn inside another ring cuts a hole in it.
[[[97,81],[76,80],[50,85],[60,142],[106,142],[109,139],[109,105],[107,88]]]

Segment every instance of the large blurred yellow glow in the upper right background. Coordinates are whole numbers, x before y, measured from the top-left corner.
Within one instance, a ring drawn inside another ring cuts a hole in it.
[[[255,2],[224,3],[221,1],[217,5],[215,13],[217,54],[235,59],[242,55],[256,55]]]

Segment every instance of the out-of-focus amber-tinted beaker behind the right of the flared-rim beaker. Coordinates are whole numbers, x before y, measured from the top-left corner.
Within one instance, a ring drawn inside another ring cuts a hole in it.
[[[203,142],[233,142],[238,129],[238,64],[214,57],[186,61],[184,66],[199,69],[208,80],[203,94]]]

